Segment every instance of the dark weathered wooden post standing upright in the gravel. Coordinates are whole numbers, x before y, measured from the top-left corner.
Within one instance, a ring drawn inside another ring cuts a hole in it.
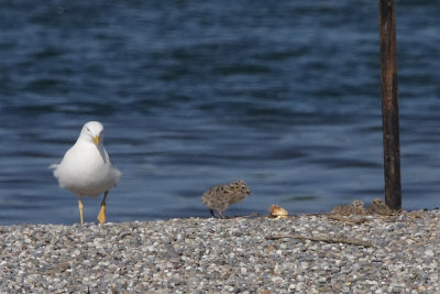
[[[382,118],[384,132],[385,203],[402,208],[400,142],[397,91],[396,3],[378,0],[381,30]]]

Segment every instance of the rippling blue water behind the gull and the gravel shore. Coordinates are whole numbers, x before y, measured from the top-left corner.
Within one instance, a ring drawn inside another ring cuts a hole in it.
[[[0,9],[0,225],[75,224],[61,161],[106,127],[108,220],[328,211],[383,197],[377,1],[8,1]],[[398,1],[405,209],[440,205],[440,6]],[[96,221],[99,198],[85,199]]]

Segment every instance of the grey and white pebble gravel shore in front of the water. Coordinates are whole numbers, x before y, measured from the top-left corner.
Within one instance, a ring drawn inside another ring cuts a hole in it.
[[[0,293],[440,293],[440,210],[0,227]]]

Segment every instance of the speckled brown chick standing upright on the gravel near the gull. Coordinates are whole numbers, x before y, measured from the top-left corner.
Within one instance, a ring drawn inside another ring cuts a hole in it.
[[[209,188],[201,196],[201,202],[208,206],[212,217],[215,217],[213,211],[217,210],[219,217],[224,218],[222,213],[227,210],[231,204],[244,200],[246,195],[252,195],[252,193],[246,183],[240,179],[231,184],[217,185]]]

